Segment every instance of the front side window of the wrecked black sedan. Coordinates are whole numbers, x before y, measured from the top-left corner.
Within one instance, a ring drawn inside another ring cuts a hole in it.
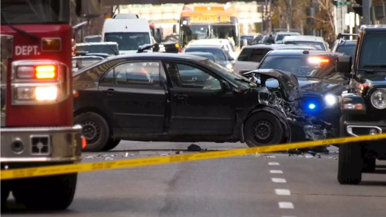
[[[221,83],[199,68],[183,63],[166,63],[174,87],[221,90]]]

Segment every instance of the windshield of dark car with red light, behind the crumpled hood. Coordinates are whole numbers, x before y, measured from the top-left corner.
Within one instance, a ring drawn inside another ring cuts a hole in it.
[[[298,77],[328,77],[336,72],[335,64],[326,57],[268,56],[259,69],[278,69],[291,72]]]

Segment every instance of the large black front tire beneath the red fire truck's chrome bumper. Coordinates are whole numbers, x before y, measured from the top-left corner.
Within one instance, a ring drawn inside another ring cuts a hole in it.
[[[78,174],[18,180],[12,194],[27,210],[64,210],[71,205]]]

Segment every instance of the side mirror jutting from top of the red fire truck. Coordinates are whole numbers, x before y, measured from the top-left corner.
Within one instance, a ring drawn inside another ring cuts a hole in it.
[[[95,18],[102,14],[102,0],[76,0],[76,15],[82,18]]]

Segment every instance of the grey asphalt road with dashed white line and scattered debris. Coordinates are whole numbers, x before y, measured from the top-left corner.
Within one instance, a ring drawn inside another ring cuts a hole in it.
[[[85,161],[169,155],[175,150],[181,154],[187,145],[122,142],[112,152],[85,153]],[[198,145],[207,149],[244,147]],[[86,172],[79,175],[76,198],[69,210],[27,213],[10,198],[10,211],[0,216],[384,217],[386,175],[382,173],[386,170],[364,174],[359,186],[339,185],[337,149],[331,150],[320,157],[250,155]]]

